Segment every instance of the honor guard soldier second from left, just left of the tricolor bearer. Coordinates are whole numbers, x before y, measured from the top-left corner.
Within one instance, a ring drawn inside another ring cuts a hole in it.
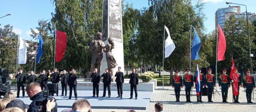
[[[191,102],[190,101],[190,92],[191,88],[194,86],[193,82],[193,76],[190,74],[190,69],[186,69],[186,74],[183,76],[183,86],[185,88],[186,92],[186,102]]]

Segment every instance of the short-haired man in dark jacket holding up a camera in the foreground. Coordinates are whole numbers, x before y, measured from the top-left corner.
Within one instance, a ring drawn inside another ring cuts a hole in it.
[[[29,96],[30,100],[32,102],[29,105],[29,109],[27,112],[37,112],[40,111],[39,109],[42,108],[43,110],[47,110],[47,103],[55,101],[55,99],[52,96],[44,97],[43,92],[41,90],[41,86],[35,82],[31,82],[26,87],[27,95]],[[48,94],[49,95],[49,94]],[[47,101],[45,103],[44,101]],[[45,105],[44,105],[45,104]],[[48,108],[49,110],[49,108]],[[53,109],[51,109],[52,112],[57,112],[57,103],[55,101],[55,106]]]

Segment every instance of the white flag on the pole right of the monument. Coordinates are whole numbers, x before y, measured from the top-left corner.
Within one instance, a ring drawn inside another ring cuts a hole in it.
[[[169,29],[165,26],[165,30],[168,34],[167,39],[165,40],[165,58],[169,57],[172,54],[173,50],[175,49],[175,45],[173,40],[171,39]]]

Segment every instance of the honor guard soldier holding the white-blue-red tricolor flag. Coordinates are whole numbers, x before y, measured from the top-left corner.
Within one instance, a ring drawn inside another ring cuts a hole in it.
[[[197,99],[197,103],[200,101],[201,103],[203,103],[202,101],[202,93],[203,93],[203,88],[204,88],[204,85],[206,85],[206,82],[205,82],[205,78],[203,76],[203,74],[201,73],[201,70],[202,69],[199,69],[199,77],[200,77],[200,93],[199,93],[199,96],[196,95],[196,99]],[[194,76],[194,82],[195,82],[195,86],[197,86],[197,77],[196,77],[196,74]]]

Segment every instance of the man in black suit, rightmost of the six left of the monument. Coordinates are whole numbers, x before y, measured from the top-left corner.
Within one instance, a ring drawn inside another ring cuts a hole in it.
[[[77,85],[77,81],[76,79],[78,78],[75,69],[71,69],[71,74],[69,74],[68,76],[68,86],[69,86],[69,98],[67,100],[71,99],[72,96],[72,89],[74,89],[74,94],[75,94],[75,98],[77,100],[77,92],[76,92],[76,85]]]

